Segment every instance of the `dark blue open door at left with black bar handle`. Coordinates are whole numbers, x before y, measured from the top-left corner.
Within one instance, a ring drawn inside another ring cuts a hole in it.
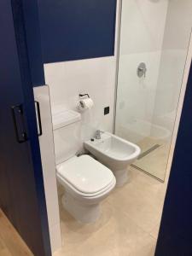
[[[35,256],[49,256],[49,228],[20,0],[0,1],[0,207]],[[34,3],[34,2],[33,2]]]

